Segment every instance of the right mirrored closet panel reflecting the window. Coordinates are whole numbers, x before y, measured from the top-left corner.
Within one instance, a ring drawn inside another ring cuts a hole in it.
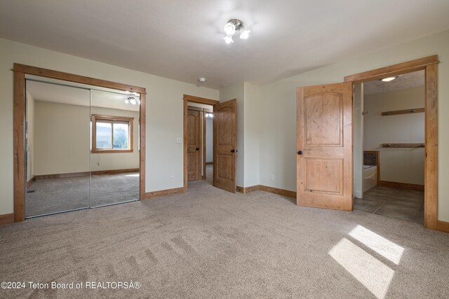
[[[138,95],[92,90],[91,207],[139,199],[139,111]]]

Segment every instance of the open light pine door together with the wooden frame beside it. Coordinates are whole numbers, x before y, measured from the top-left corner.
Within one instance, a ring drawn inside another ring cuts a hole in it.
[[[437,55],[346,76],[343,83],[297,88],[297,204],[354,209],[354,85],[420,70],[424,71],[424,226],[438,230],[441,225],[444,230],[437,213]],[[358,146],[362,148],[360,142]],[[361,161],[361,150],[356,153]]]

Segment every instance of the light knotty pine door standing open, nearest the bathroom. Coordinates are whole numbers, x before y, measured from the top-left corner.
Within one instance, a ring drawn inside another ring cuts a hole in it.
[[[297,89],[298,205],[352,211],[352,83]]]

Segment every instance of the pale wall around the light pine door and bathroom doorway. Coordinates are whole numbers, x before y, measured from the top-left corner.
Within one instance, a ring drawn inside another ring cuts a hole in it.
[[[438,54],[438,219],[449,221],[449,31],[427,36],[260,87],[260,183],[296,189],[296,88],[342,82],[344,76]],[[268,121],[269,120],[269,121]],[[270,174],[279,179],[269,181]]]

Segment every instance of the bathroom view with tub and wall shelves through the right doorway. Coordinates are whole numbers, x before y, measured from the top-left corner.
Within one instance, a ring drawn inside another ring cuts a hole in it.
[[[424,225],[424,70],[354,85],[354,209]]]

